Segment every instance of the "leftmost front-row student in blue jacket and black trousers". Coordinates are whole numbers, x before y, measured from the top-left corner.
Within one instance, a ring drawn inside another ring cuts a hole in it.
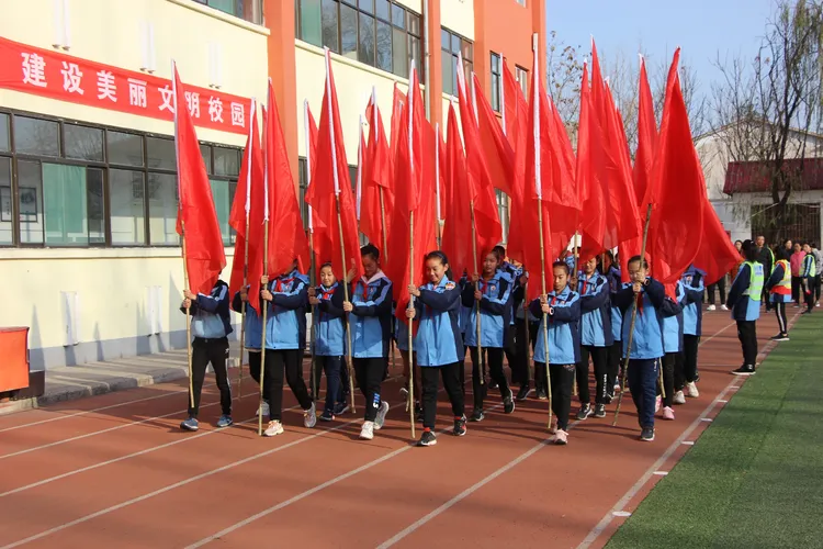
[[[217,427],[232,425],[232,385],[228,383],[226,359],[228,358],[228,335],[232,333],[232,320],[228,311],[228,284],[217,280],[208,295],[183,291],[183,303],[180,311],[187,310],[192,316],[191,333],[194,340],[191,344],[191,376],[194,406],[189,397],[189,417],[180,424],[184,430],[198,430],[198,413],[200,412],[200,394],[203,391],[203,380],[208,363],[214,368],[217,388],[221,391],[221,408],[223,415],[217,419]]]

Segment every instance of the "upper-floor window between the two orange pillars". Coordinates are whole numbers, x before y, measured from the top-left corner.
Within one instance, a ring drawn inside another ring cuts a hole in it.
[[[420,15],[391,0],[296,0],[297,38],[408,77],[420,70]]]

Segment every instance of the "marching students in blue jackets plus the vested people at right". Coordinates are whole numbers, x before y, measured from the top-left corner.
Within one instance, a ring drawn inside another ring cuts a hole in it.
[[[754,247],[752,243],[746,243]],[[752,318],[759,314],[759,299],[764,287],[763,268],[754,261],[741,266],[730,292],[730,305],[739,321],[739,333],[744,349],[744,365],[735,373],[754,372]],[[306,313],[313,312],[315,323],[314,378],[317,385],[320,371],[326,374],[326,399],[320,421],[330,422],[349,408],[348,367],[345,357],[351,345],[351,357],[357,385],[365,400],[365,413],[360,438],[370,440],[380,430],[390,410],[382,393],[388,373],[392,340],[396,341],[405,363],[407,380],[402,390],[408,395],[409,368],[414,359],[414,402],[417,422],[424,432],[420,446],[437,442],[435,434],[437,393],[440,378],[452,407],[456,436],[466,433],[467,422],[485,418],[487,390],[498,390],[503,412],[511,414],[516,401],[525,401],[534,381],[535,397],[549,397],[545,369],[549,368],[553,422],[552,440],[565,445],[574,386],[579,399],[578,421],[606,417],[606,406],[621,390],[621,366],[630,356],[629,391],[638,408],[640,439],[654,440],[655,416],[674,419],[674,405],[685,404],[686,396],[697,397],[699,391],[698,344],[701,335],[703,277],[690,267],[676,283],[674,296],[663,284],[649,276],[649,265],[641,257],[628,261],[629,282],[621,281],[621,272],[613,255],[582,264],[574,272],[575,259],[560,259],[551,266],[552,289],[539,299],[525,303],[528,272],[522,266],[505,259],[500,246],[489,250],[483,259],[481,273],[453,277],[447,256],[431,251],[425,258],[428,282],[409,285],[414,306],[406,309],[406,318],[414,324],[413,352],[408,352],[408,324],[395,317],[392,282],[380,268],[380,250],[369,244],[361,249],[364,274],[352,280],[353,270],[342,280],[331,265],[318,270],[319,284],[311,287],[308,277],[298,272],[297,264],[274,280],[261,281],[260,295],[248,295],[247,289],[232,300],[225,282],[218,281],[211,295],[185,292],[183,311],[191,306],[194,335],[192,358],[193,406],[189,418],[181,424],[188,430],[198,429],[200,393],[208,362],[214,367],[221,391],[223,415],[219,427],[232,424],[230,384],[226,373],[227,336],[232,332],[230,309],[246,311],[246,349],[252,378],[262,383],[262,411],[269,416],[266,436],[283,433],[283,380],[294,393],[304,412],[304,425],[316,424],[314,391],[303,379],[303,354],[306,345]],[[780,265],[780,267],[783,267]],[[773,279],[779,269],[775,270]],[[349,300],[345,285],[352,284]],[[769,280],[766,284],[774,295],[785,282]],[[774,289],[777,289],[775,291]],[[778,301],[776,299],[775,301]],[[262,325],[262,307],[267,323]],[[405,306],[405,305],[403,305]],[[634,333],[631,329],[632,309]],[[755,313],[757,310],[757,313]],[[480,320],[477,318],[480,315]],[[402,316],[402,315],[401,315]],[[545,327],[543,322],[546,322]],[[350,344],[346,336],[349,323]],[[545,329],[545,334],[544,330]],[[631,350],[629,341],[631,340]],[[264,341],[264,344],[263,344]],[[756,357],[756,338],[754,354]],[[261,379],[261,356],[266,354],[266,371]],[[533,352],[533,378],[530,356]],[[465,414],[465,356],[472,361],[473,410]],[[519,385],[517,396],[504,372],[504,356],[511,368],[511,381]],[[596,379],[594,402],[589,391],[589,360]],[[487,368],[487,372],[486,372]],[[491,380],[486,379],[486,373]],[[260,411],[259,411],[260,412]]]

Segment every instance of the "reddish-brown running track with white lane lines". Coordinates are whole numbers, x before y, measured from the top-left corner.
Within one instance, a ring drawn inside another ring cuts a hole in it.
[[[178,429],[185,381],[0,417],[0,544],[602,547],[619,515],[636,507],[743,382],[729,374],[741,357],[729,314],[707,313],[703,322],[700,397],[676,406],[675,422],[658,419],[651,444],[636,440],[627,394],[618,427],[612,404],[606,419],[575,424],[567,447],[545,445],[546,403],[529,399],[512,415],[498,406],[469,424],[464,438],[440,434],[436,447],[416,448],[396,379],[384,384],[392,411],[370,442],[357,439],[362,399],[358,416],[305,429],[288,389],[286,433],[259,438],[248,378],[235,401],[238,425],[219,432],[211,426],[219,415],[213,384],[204,388],[201,430]],[[758,332],[763,348],[776,332],[773,315]],[[438,415],[448,428],[442,391]]]

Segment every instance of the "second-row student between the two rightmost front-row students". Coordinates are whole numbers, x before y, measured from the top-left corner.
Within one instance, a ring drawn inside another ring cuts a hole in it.
[[[580,399],[580,410],[577,419],[586,419],[590,415],[606,417],[606,404],[609,402],[608,386],[608,352],[615,344],[611,334],[611,302],[609,300],[609,281],[597,272],[597,258],[593,257],[583,264],[583,271],[577,279],[577,293],[580,296],[580,361],[577,362],[577,394]],[[588,388],[588,359],[595,366],[597,391],[595,393],[595,408]]]

